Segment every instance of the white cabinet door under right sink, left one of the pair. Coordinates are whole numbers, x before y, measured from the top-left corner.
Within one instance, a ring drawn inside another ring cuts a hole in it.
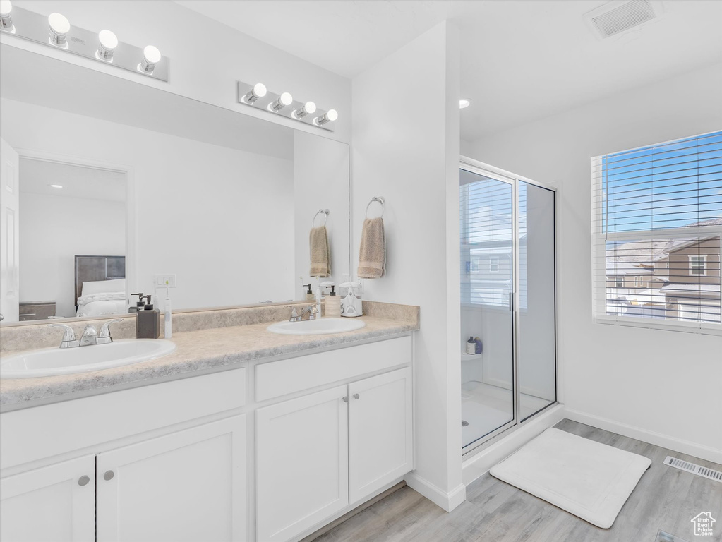
[[[285,541],[349,504],[347,387],[256,411],[256,539]]]

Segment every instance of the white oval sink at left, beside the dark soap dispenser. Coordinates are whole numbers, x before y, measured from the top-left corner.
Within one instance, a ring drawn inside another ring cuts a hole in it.
[[[175,343],[162,338],[132,338],[108,344],[46,348],[0,359],[0,378],[72,375],[121,367],[170,354]]]

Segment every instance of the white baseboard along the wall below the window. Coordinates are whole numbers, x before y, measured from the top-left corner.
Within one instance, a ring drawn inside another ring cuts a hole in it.
[[[642,442],[648,442],[649,444],[667,448],[668,450],[674,450],[675,452],[692,455],[692,457],[695,458],[722,464],[722,450],[716,450],[713,447],[696,444],[695,442],[690,442],[688,440],[677,439],[675,437],[670,437],[667,434],[648,431],[647,429],[642,429],[641,427],[622,424],[619,421],[602,418],[601,416],[587,414],[586,412],[576,411],[570,408],[567,408],[566,410],[566,417],[572,421],[578,421],[580,424],[599,427],[599,429],[622,434],[625,437],[630,437],[631,439],[641,440]]]

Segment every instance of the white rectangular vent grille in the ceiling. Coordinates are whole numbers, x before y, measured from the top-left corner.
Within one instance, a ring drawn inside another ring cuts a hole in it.
[[[661,14],[661,1],[615,0],[584,15],[584,21],[597,38],[610,38],[630,28],[656,19]]]

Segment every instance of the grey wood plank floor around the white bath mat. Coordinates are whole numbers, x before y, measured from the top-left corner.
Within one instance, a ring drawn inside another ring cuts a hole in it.
[[[662,461],[674,455],[716,470],[722,465],[570,420],[556,427],[652,460],[612,528],[595,527],[487,473],[466,488],[466,502],[451,513],[404,487],[316,541],[654,542],[658,530],[688,542],[722,541],[722,484]],[[690,520],[703,511],[717,520],[714,536],[695,536],[692,531]]]

